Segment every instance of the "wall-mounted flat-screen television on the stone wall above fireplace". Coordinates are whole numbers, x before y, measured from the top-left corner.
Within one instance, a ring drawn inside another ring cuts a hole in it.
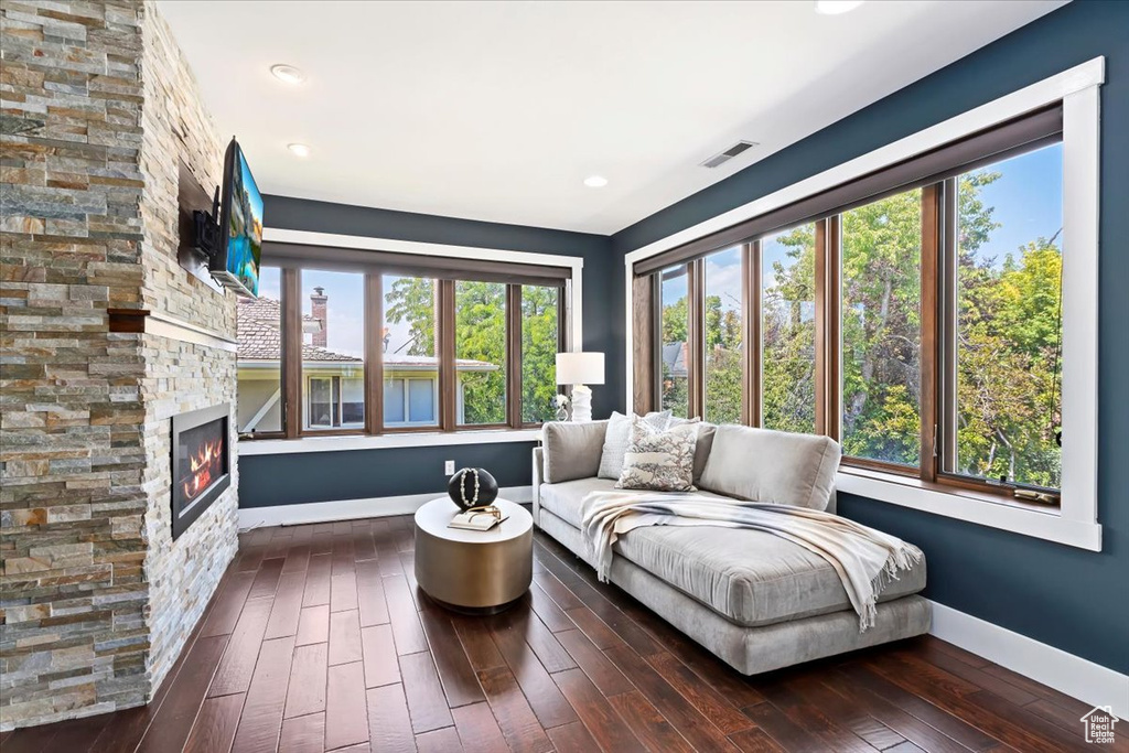
[[[235,139],[224,159],[219,227],[218,248],[209,265],[212,277],[239,295],[256,297],[263,253],[263,196]]]

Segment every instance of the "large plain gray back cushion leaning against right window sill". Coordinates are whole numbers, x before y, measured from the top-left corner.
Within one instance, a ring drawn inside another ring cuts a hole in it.
[[[840,455],[829,437],[727,423],[717,428],[701,485],[738,499],[823,510]]]

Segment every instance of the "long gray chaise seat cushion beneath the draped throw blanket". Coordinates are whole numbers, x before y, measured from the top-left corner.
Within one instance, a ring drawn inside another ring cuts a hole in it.
[[[741,625],[851,608],[826,560],[762,531],[650,526],[622,536],[613,551]],[[925,577],[922,558],[886,586],[878,602],[916,594]]]

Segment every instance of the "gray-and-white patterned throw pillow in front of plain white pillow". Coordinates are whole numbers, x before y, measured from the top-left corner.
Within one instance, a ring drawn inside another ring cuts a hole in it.
[[[694,448],[700,423],[691,421],[656,429],[644,419],[631,421],[631,439],[623,456],[623,473],[616,489],[697,491]]]

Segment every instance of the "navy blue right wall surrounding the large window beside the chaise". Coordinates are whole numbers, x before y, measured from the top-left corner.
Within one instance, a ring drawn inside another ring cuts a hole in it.
[[[1102,88],[1099,450],[1103,551],[1086,552],[848,494],[840,497],[839,510],[919,544],[928,558],[930,598],[1127,673],[1129,2],[1076,0],[623,229],[613,243],[622,256],[1097,55],[1105,55],[1106,62]]]

